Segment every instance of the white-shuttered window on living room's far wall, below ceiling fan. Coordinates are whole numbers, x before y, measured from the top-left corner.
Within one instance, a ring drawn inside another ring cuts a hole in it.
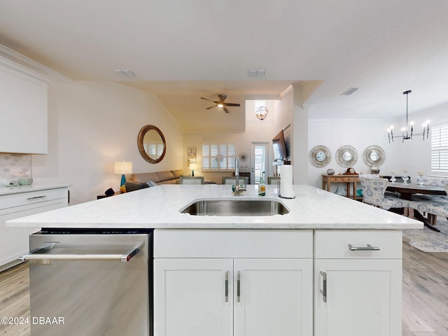
[[[221,172],[235,169],[236,156],[235,144],[202,144],[202,170]]]

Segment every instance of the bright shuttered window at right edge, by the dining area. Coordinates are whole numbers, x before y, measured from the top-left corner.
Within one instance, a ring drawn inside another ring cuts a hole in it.
[[[448,124],[431,127],[431,171],[448,172]]]

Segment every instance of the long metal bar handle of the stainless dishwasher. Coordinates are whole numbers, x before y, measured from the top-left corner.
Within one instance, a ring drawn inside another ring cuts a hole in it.
[[[46,254],[37,253],[38,251],[45,251],[52,248],[54,244],[46,245],[41,248],[36,248],[28,254],[19,256],[19,260],[116,260],[121,262],[129,262],[134,255],[140,252],[140,246],[134,246],[125,253],[117,254]]]

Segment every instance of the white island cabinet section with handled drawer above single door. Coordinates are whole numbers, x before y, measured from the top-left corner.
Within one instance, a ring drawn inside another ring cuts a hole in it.
[[[393,230],[316,232],[315,336],[401,335],[401,237]]]

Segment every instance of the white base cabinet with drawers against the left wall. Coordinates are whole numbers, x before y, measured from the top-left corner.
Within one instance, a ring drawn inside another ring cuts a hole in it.
[[[40,228],[6,227],[10,219],[38,214],[66,207],[67,188],[55,188],[0,195],[0,269],[15,262],[18,256],[29,251],[29,235]]]

